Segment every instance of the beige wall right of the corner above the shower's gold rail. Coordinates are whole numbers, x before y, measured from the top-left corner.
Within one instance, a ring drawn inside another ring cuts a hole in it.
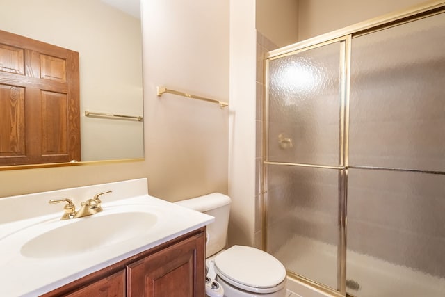
[[[298,40],[403,10],[424,0],[298,0]]]

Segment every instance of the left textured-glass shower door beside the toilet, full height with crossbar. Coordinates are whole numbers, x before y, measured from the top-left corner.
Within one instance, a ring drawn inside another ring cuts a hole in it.
[[[268,61],[266,249],[337,289],[345,40]],[[343,63],[344,64],[344,63]]]

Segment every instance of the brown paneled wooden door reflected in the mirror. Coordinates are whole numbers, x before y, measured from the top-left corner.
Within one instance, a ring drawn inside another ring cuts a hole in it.
[[[81,161],[79,53],[0,31],[0,166]]]

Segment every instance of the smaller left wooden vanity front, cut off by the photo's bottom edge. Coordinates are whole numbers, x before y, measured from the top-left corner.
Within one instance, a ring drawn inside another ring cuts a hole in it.
[[[86,287],[76,290],[67,297],[124,297],[125,296],[125,271],[119,271]]]

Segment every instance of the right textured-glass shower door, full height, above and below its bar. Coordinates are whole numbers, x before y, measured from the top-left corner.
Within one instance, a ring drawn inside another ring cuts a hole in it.
[[[352,40],[348,292],[445,296],[445,15]]]

